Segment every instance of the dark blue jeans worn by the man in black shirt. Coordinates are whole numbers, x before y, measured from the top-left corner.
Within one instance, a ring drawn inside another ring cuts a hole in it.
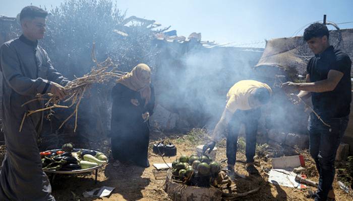
[[[334,161],[337,148],[348,125],[348,117],[325,120],[325,126],[314,114],[309,117],[310,155],[319,172],[319,186],[316,201],[326,201],[335,175]]]

